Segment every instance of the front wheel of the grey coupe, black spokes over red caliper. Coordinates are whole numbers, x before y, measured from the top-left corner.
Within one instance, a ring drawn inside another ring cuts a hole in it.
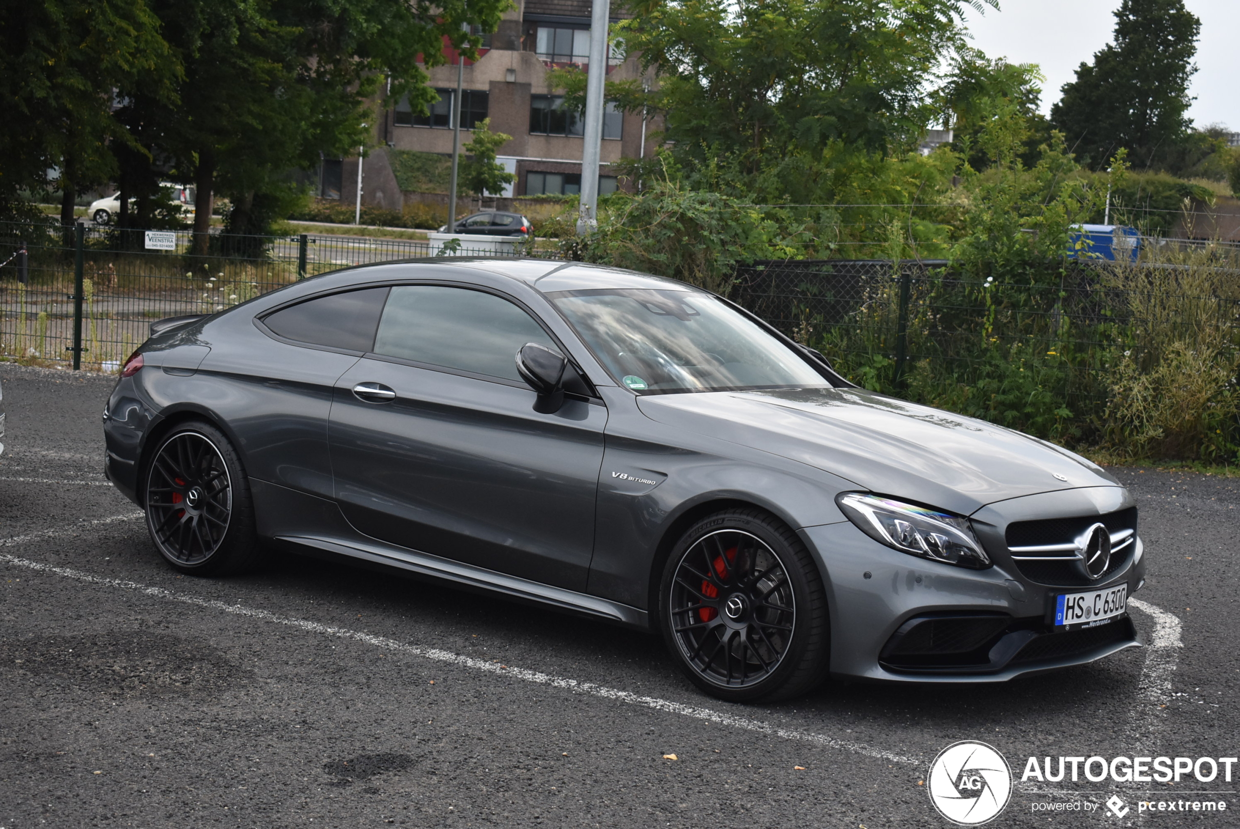
[[[830,668],[826,590],[810,551],[774,515],[725,509],[672,548],[658,590],[672,657],[712,696],[796,696]]]

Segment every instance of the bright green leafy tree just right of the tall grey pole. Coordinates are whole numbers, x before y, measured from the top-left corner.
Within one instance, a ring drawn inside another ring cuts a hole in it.
[[[965,7],[639,0],[616,35],[658,86],[646,97],[632,94],[635,84],[611,97],[661,112],[678,162],[689,175],[709,170],[711,186],[830,201],[849,159],[911,150],[940,119],[939,67],[966,48]]]

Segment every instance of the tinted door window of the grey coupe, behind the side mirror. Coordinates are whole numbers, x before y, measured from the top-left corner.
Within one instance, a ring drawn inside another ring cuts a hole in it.
[[[494,294],[401,285],[383,309],[374,353],[520,380],[516,358],[527,342],[558,351],[528,314]]]

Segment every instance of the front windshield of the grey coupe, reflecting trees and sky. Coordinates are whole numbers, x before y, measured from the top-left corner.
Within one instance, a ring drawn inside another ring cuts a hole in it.
[[[830,387],[805,359],[709,294],[601,289],[548,294],[634,392]]]

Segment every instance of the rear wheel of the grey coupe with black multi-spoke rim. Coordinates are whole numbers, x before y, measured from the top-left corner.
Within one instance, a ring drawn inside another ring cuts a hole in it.
[[[179,424],[151,452],[143,481],[146,530],[172,569],[222,576],[263,563],[249,480],[222,431]]]

